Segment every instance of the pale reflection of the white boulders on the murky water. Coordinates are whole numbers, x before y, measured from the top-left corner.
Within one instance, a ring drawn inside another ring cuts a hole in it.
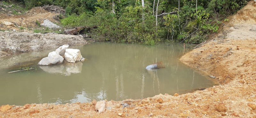
[[[71,73],[81,73],[83,63],[81,61],[76,63],[64,63],[59,65],[53,65],[53,66],[39,66],[42,70],[44,70],[47,73],[53,73],[53,74],[63,74],[66,76],[71,75]]]

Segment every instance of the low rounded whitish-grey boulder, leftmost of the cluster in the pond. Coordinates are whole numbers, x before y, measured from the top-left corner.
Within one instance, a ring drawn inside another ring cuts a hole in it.
[[[63,63],[64,58],[60,55],[52,55],[49,57],[43,58],[41,61],[38,62],[39,66],[50,66],[55,64]]]

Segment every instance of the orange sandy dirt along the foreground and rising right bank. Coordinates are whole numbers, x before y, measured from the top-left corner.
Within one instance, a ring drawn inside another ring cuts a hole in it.
[[[110,101],[103,113],[95,110],[97,101],[5,105],[0,107],[0,117],[256,118],[256,3],[249,2],[228,19],[225,24],[232,28],[224,26],[212,40],[180,59],[190,67],[216,76],[219,86],[183,95],[163,93],[152,98]]]

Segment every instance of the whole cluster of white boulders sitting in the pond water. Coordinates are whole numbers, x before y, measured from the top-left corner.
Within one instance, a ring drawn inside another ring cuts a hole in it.
[[[48,54],[48,57],[43,58],[38,62],[39,66],[50,66],[56,64],[62,64],[67,61],[69,63],[75,63],[78,61],[84,61],[79,49],[68,49],[69,45],[65,44],[57,48]]]

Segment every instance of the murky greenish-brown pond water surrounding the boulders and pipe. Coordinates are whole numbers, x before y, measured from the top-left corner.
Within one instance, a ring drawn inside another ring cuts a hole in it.
[[[193,46],[187,44],[186,47]],[[87,60],[75,64],[36,66],[55,49],[0,58],[0,105],[138,99],[159,93],[187,93],[217,83],[178,60],[183,55],[183,44],[93,43],[71,48],[80,49]],[[185,52],[189,50],[186,48]],[[163,61],[165,68],[145,70],[156,61]],[[7,73],[23,66],[36,67],[37,70]]]

